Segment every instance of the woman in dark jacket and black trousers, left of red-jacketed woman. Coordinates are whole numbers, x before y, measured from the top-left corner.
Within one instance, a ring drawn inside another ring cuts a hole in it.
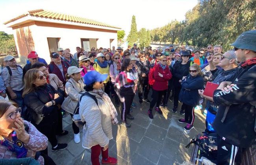
[[[140,52],[138,55],[139,55],[138,56],[139,61],[136,61],[136,65],[138,66],[137,72],[139,76],[139,82],[138,82],[139,103],[142,103],[143,100],[147,103],[150,103],[150,100],[148,100],[148,91],[149,91],[148,73],[150,69],[150,62],[146,59],[144,52]],[[144,91],[144,97],[143,97],[143,91]]]

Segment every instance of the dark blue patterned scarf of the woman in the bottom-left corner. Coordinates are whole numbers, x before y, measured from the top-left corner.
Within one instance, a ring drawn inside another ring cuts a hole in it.
[[[13,131],[11,136],[13,138],[13,144],[5,138],[4,140],[0,140],[0,144],[7,147],[11,152],[15,152],[17,158],[26,158],[28,150],[24,147],[22,141],[17,138],[16,132]]]

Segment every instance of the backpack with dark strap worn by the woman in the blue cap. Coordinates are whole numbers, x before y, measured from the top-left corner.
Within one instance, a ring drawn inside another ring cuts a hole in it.
[[[86,123],[86,121],[82,122],[82,120],[80,118],[80,114],[79,114],[80,102],[81,102],[83,96],[89,96],[98,105],[98,101],[97,101],[97,99],[94,95],[90,94],[89,92],[85,92],[84,94],[82,94],[82,96],[79,98],[79,101],[76,105],[76,108],[75,108],[74,113],[73,113],[73,118],[72,118],[72,120],[74,121],[74,123],[76,124],[77,127],[82,127]]]

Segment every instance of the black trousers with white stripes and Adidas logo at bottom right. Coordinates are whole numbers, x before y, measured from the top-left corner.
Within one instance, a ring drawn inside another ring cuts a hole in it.
[[[218,165],[239,165],[241,164],[242,148],[223,140],[225,138],[217,136],[217,164]]]

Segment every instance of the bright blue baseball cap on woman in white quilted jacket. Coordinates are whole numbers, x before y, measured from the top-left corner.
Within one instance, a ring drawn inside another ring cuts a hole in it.
[[[83,77],[85,85],[90,85],[93,82],[104,82],[108,77],[108,74],[100,74],[97,71],[90,71]]]

